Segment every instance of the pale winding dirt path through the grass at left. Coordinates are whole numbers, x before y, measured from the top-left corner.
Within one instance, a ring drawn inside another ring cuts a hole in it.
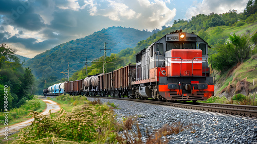
[[[46,109],[44,112],[41,113],[41,115],[49,115],[49,110],[51,110],[51,113],[56,113],[61,110],[60,105],[57,102],[54,102],[52,100],[45,100],[43,101],[46,103]],[[34,121],[34,118],[30,118],[26,121],[20,122],[20,123],[15,123],[13,125],[8,125],[8,134],[14,133],[16,131],[19,131],[20,129],[27,127]],[[4,128],[0,129],[0,136],[4,135]]]

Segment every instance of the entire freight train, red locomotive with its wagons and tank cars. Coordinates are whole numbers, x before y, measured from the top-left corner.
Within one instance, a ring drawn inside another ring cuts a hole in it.
[[[52,85],[45,96],[63,93],[166,101],[207,100],[214,95],[207,42],[182,30],[166,34],[136,54],[129,64],[107,74]]]

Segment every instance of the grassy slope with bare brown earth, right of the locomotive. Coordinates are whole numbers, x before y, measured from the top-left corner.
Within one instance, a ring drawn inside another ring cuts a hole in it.
[[[235,94],[248,95],[257,92],[257,54],[249,60],[238,63],[224,74],[215,77],[215,96],[232,97]]]

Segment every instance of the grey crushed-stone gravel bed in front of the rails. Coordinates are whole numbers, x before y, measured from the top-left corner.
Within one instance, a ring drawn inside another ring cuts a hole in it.
[[[114,110],[117,120],[122,121],[123,117],[137,116],[143,142],[148,139],[146,128],[149,134],[152,134],[164,124],[180,122],[185,125],[191,124],[192,129],[162,137],[168,139],[168,143],[257,143],[257,121],[245,117],[219,116],[125,100],[101,99],[101,101],[114,102],[118,105],[118,109]],[[132,131],[137,132],[135,125]]]

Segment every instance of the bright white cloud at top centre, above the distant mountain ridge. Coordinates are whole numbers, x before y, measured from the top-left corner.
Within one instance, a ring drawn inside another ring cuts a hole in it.
[[[169,9],[166,3],[170,3],[170,1],[107,0],[104,3],[97,4],[90,0],[87,1],[85,6],[89,8],[90,15],[108,17],[111,20],[109,23],[120,22],[122,26],[142,30],[161,28],[161,26],[168,25],[173,20],[176,9]],[[119,23],[117,24],[119,25]]]

